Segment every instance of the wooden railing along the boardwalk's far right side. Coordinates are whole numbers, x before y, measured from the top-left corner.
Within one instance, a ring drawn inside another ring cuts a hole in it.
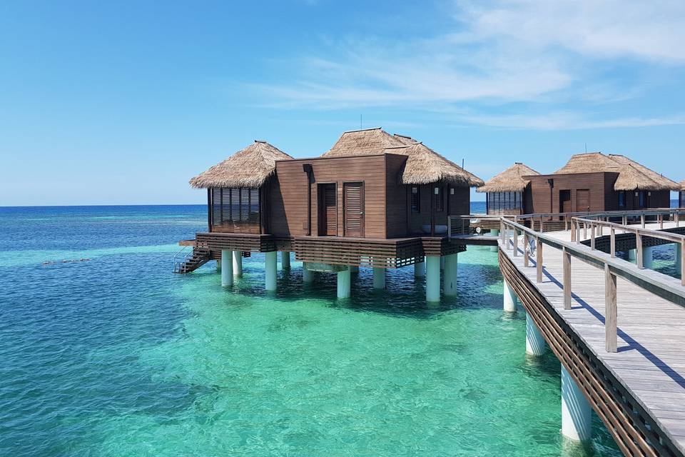
[[[661,215],[660,215],[661,216]],[[677,217],[677,214],[676,214]],[[587,230],[589,226],[590,230],[590,249],[594,251],[595,238],[596,236],[603,236],[602,229],[609,229],[609,255],[616,257],[616,231],[621,230],[623,233],[634,233],[635,235],[635,259],[637,268],[643,269],[643,256],[642,256],[642,237],[648,236],[650,238],[657,238],[661,240],[666,240],[671,243],[676,243],[681,246],[681,283],[685,286],[685,236],[679,235],[678,233],[669,233],[667,231],[656,231],[644,228],[644,219],[642,220],[642,227],[634,227],[623,224],[615,224],[614,222],[602,221],[601,219],[585,219],[574,217],[572,219],[572,233],[575,236],[572,237],[577,243],[580,243],[580,226],[584,226]],[[664,228],[664,221],[660,217],[659,226],[661,229]],[[677,224],[676,224],[677,226]],[[587,238],[587,236],[586,236]]]

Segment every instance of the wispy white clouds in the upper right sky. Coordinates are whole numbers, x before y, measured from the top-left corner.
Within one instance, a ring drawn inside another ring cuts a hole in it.
[[[454,18],[450,33],[410,41],[347,37],[329,44],[325,59],[290,59],[294,77],[253,89],[272,106],[310,109],[402,106],[439,112],[456,104],[609,103],[635,96],[649,81],[614,83],[594,68],[598,62],[628,57],[644,66],[685,64],[682,0],[455,1]],[[544,129],[669,123],[590,122],[572,114],[479,119]]]

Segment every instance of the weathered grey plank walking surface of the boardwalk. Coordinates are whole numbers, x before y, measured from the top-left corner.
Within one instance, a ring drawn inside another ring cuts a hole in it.
[[[664,229],[671,226],[675,224],[664,223]],[[659,227],[647,224],[646,228]],[[571,239],[570,231],[546,235],[560,241],[570,242]],[[569,328],[644,407],[679,451],[685,453],[685,308],[617,278],[618,351],[607,352],[604,270],[572,258],[572,308],[565,310],[562,251],[544,246],[544,276],[542,283],[537,283],[534,258],[530,258],[529,266],[524,267],[522,236],[518,245],[519,255],[513,256],[511,240],[509,249],[499,241],[502,252],[517,270],[547,298]],[[590,251],[589,247],[574,246]],[[654,272],[654,276],[657,275]]]

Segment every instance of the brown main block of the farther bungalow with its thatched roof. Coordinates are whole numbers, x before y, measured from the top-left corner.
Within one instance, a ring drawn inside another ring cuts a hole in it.
[[[531,174],[531,213],[668,208],[679,184],[618,154],[575,154],[554,174]]]

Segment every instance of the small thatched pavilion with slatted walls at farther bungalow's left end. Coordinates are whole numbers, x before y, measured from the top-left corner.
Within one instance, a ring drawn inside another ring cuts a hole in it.
[[[521,162],[516,162],[477,188],[477,192],[486,194],[486,213],[517,216],[532,212],[530,179],[524,176],[533,175],[539,173]]]

